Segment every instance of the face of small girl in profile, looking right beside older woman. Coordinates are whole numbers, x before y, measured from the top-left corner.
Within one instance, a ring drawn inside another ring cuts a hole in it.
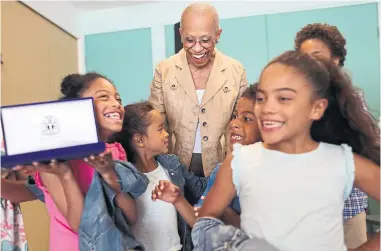
[[[164,129],[164,118],[160,112],[150,112],[151,124],[147,128],[147,136],[143,137],[143,144],[153,156],[167,153],[169,135]]]

